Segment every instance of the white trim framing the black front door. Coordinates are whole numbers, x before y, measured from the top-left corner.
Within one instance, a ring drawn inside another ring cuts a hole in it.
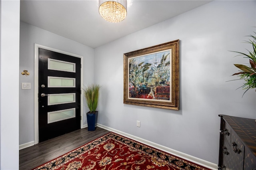
[[[84,75],[84,62],[83,62],[83,56],[81,55],[76,55],[76,54],[73,54],[73,53],[69,53],[69,52],[66,52],[66,51],[61,51],[61,50],[58,50],[58,49],[54,49],[54,48],[51,48],[51,47],[46,47],[44,45],[39,45],[39,44],[34,44],[34,144],[38,144],[38,141],[39,141],[39,128],[38,128],[38,62],[39,62],[39,48],[43,48],[43,49],[47,49],[47,50],[50,50],[50,51],[55,51],[55,52],[58,52],[58,53],[63,53],[63,54],[66,54],[66,55],[71,55],[73,57],[78,57],[81,59],[81,92],[82,92],[82,87],[83,87],[83,75]],[[79,66],[77,66],[79,67]],[[81,121],[80,121],[80,127],[83,128],[83,107],[82,107],[82,104],[83,104],[83,93],[81,93],[80,95],[80,98],[81,98],[81,107],[80,107],[80,110],[81,110]]]

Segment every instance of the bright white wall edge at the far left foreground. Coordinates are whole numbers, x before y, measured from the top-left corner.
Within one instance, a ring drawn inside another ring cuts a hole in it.
[[[19,168],[19,38],[20,1],[1,1],[1,164]]]

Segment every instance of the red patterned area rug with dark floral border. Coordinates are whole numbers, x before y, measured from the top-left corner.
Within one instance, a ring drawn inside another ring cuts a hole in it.
[[[110,132],[34,170],[210,170]]]

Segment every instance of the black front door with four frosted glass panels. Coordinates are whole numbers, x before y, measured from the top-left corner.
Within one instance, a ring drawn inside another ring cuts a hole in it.
[[[80,129],[81,59],[39,48],[39,142]]]

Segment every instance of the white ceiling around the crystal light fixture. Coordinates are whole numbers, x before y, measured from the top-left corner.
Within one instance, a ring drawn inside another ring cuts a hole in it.
[[[119,23],[101,18],[98,0],[21,0],[20,20],[92,48],[162,22],[210,0],[128,0]]]

